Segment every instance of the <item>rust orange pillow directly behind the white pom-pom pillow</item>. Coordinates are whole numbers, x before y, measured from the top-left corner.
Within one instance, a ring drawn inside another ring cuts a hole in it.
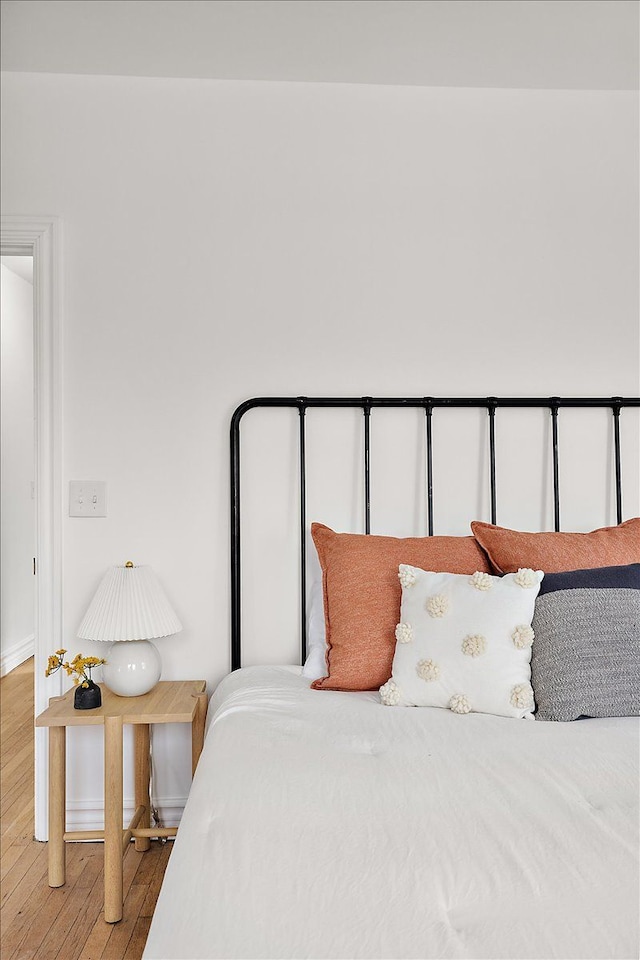
[[[377,690],[391,676],[402,588],[398,565],[438,573],[490,571],[473,537],[376,537],[335,533],[321,523],[311,535],[322,567],[328,676],[316,690]]]

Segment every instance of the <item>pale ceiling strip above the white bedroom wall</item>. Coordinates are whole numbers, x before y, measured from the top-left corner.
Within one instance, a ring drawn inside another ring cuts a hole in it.
[[[637,89],[638,0],[2,0],[2,68]]]

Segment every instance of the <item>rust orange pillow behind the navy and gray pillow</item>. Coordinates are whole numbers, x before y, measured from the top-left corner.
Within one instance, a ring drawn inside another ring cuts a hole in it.
[[[479,520],[471,529],[496,573],[519,567],[561,573],[640,562],[640,517],[591,533],[520,533]]]

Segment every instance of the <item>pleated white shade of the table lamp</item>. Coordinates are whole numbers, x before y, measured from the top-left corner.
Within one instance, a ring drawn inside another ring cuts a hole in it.
[[[153,640],[182,630],[151,567],[111,567],[89,604],[81,640]]]

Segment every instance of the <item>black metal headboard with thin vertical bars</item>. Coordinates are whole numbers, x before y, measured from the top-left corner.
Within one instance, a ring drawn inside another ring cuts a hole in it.
[[[370,421],[376,407],[422,408],[426,431],[426,501],[428,534],[433,535],[433,440],[432,417],[443,407],[479,408],[489,416],[489,481],[491,523],[496,523],[496,411],[502,407],[546,409],[551,415],[553,457],[554,529],[560,530],[559,411],[565,407],[604,408],[613,417],[613,455],[615,463],[616,516],[622,522],[622,467],[620,450],[620,414],[624,407],[640,407],[640,397],[254,397],[245,400],[231,419],[231,669],[241,666],[241,561],[240,561],[240,422],[256,407],[290,407],[299,414],[299,487],[300,487],[300,596],[306,596],[306,430],[305,413],[315,407],[360,408],[364,414],[364,508],[365,533],[371,531]],[[301,602],[300,635],[302,662],[306,658],[306,611]]]

